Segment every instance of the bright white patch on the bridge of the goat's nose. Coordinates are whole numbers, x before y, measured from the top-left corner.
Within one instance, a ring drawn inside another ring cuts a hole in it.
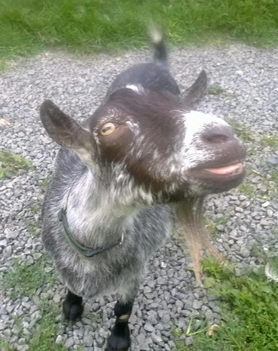
[[[212,114],[190,111],[183,114],[186,128],[185,144],[190,145],[195,134],[200,134],[210,125],[228,126],[223,119]]]

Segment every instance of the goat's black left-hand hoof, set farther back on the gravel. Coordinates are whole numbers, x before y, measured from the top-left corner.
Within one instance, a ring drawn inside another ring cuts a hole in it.
[[[63,303],[63,319],[72,325],[83,313],[82,297],[68,292]]]

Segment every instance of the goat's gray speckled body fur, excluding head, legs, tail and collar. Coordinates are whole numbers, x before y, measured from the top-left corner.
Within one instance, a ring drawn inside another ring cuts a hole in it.
[[[179,93],[170,73],[156,64],[135,66],[122,73],[107,96],[127,84]],[[124,174],[125,178],[116,182],[113,167],[92,172],[72,151],[61,148],[57,155],[55,174],[43,204],[42,238],[64,284],[77,295],[95,298],[117,293],[120,301],[132,300],[148,259],[171,232],[170,208],[147,207],[147,194]],[[57,217],[68,190],[67,219],[74,237],[94,248],[112,244],[124,232],[121,246],[91,260],[72,250]]]

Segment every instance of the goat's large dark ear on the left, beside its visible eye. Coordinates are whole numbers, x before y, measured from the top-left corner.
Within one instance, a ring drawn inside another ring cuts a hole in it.
[[[90,132],[82,128],[50,100],[45,100],[40,110],[41,120],[48,135],[59,145],[78,154],[90,153]]]

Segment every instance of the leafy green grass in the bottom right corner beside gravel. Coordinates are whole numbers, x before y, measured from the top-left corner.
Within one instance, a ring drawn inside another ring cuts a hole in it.
[[[176,335],[175,351],[278,350],[278,283],[267,281],[263,271],[248,270],[238,277],[234,269],[235,265],[203,260],[205,286],[220,301],[222,321],[212,336],[208,328],[195,332],[191,346]]]

